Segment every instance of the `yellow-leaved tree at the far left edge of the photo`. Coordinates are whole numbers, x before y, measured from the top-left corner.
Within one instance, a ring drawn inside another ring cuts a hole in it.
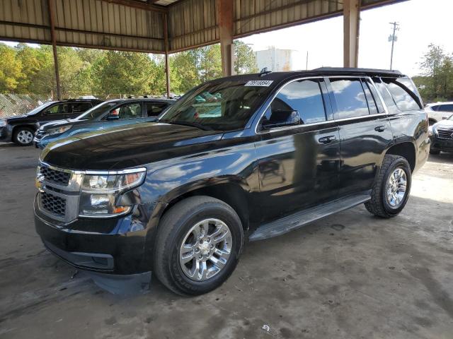
[[[0,93],[16,90],[21,78],[22,63],[16,56],[16,50],[0,44]]]

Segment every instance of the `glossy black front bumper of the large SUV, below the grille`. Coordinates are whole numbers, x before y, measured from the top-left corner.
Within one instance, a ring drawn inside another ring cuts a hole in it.
[[[35,228],[53,254],[82,270],[131,275],[151,270],[145,256],[147,230],[132,214],[111,219],[79,218],[65,224],[40,212],[35,198]]]

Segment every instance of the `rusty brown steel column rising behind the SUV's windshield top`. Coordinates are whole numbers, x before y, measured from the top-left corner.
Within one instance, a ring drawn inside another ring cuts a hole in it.
[[[220,52],[222,54],[222,73],[224,76],[234,75],[233,11],[233,1],[217,0]]]

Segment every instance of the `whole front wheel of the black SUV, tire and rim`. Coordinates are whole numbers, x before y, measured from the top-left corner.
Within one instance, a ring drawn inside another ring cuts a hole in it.
[[[223,201],[186,198],[168,210],[156,237],[154,271],[180,295],[201,295],[231,275],[243,246],[241,219]]]

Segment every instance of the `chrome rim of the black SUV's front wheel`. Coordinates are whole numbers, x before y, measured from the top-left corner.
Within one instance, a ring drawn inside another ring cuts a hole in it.
[[[231,254],[231,231],[219,219],[197,222],[185,234],[179,250],[183,273],[195,281],[205,281],[225,267]]]

